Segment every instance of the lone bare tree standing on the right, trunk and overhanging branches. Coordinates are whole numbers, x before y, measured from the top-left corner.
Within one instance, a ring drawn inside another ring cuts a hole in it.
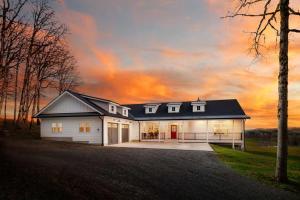
[[[258,13],[249,12],[251,8],[260,8]],[[288,45],[289,33],[300,30],[289,27],[289,16],[300,16],[300,12],[289,6],[289,0],[239,0],[237,8],[224,18],[258,17],[257,29],[252,32],[256,56],[261,55],[266,30],[272,29],[279,36],[279,75],[278,75],[278,140],[275,177],[278,182],[287,182],[288,156]],[[277,19],[280,18],[278,21]],[[279,28],[278,28],[279,27]]]

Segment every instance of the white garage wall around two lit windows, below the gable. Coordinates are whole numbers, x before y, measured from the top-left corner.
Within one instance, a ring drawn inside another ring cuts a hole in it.
[[[80,122],[89,122],[90,133],[80,133]],[[61,133],[52,133],[52,123],[62,123]],[[102,144],[102,120],[99,117],[61,117],[41,120],[41,137]]]

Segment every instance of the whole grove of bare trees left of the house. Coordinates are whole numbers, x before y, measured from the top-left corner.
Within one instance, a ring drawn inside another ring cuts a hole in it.
[[[69,34],[48,0],[1,0],[0,116],[33,121],[49,88],[59,94],[80,83]],[[9,109],[12,108],[12,109]]]

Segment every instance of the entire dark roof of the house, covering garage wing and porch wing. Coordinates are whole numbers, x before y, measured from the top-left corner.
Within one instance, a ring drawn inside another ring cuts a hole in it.
[[[226,100],[208,100],[205,105],[205,112],[193,112],[191,101],[180,102],[179,113],[168,113],[167,104],[169,102],[158,103],[160,106],[156,113],[145,113],[145,105],[147,104],[126,104],[121,106],[129,107],[128,117],[123,116],[121,113],[110,113],[100,106],[93,103],[93,101],[100,102],[111,102],[114,101],[108,99],[102,99],[98,97],[92,97],[85,94],[80,94],[74,91],[68,90],[70,94],[74,95],[81,101],[85,102],[97,112],[87,113],[55,113],[55,114],[39,114],[35,117],[46,118],[46,117],[71,117],[71,116],[111,116],[123,119],[135,119],[135,120],[184,120],[184,119],[249,119],[250,117],[245,114],[239,102],[236,99]],[[115,103],[118,104],[118,103]]]

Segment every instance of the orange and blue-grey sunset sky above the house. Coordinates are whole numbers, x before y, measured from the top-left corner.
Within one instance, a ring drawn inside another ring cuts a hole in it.
[[[80,92],[120,103],[239,100],[248,128],[277,126],[278,49],[267,32],[262,59],[249,53],[257,20],[221,19],[218,0],[59,0],[71,34]],[[300,8],[298,6],[298,8]],[[298,28],[300,23],[291,23]],[[295,28],[296,28],[295,27]],[[300,126],[300,34],[290,35],[289,125]]]

